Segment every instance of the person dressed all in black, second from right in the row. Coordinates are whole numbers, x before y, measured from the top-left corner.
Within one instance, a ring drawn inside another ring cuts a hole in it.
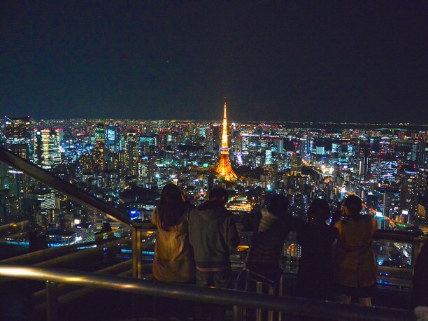
[[[327,225],[330,208],[324,199],[315,199],[308,208],[308,222],[294,221],[297,242],[301,245],[297,293],[299,297],[334,300],[332,245],[337,229]]]

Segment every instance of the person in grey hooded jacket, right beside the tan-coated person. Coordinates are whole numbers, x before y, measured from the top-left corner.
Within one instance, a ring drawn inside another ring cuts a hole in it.
[[[211,190],[209,200],[189,215],[189,239],[197,266],[197,285],[230,288],[232,285],[230,252],[239,245],[233,214],[224,206],[229,196],[221,187]],[[224,307],[212,309],[214,320],[224,320]],[[196,311],[201,320],[201,310]]]

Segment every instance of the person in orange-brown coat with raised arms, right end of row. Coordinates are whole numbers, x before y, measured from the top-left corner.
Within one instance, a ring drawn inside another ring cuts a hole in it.
[[[372,215],[362,215],[362,201],[357,195],[343,201],[343,219],[334,224],[338,241],[334,251],[337,300],[349,304],[352,297],[362,306],[371,306],[376,290],[377,266],[372,237],[378,223]]]

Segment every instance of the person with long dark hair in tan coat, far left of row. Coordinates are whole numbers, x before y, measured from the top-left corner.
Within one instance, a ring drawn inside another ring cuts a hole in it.
[[[157,227],[155,257],[152,272],[156,280],[163,282],[194,283],[196,265],[192,245],[189,242],[189,212],[192,204],[184,192],[174,184],[166,184],[162,189],[159,207],[152,213],[152,224]],[[158,300],[155,313],[161,320],[167,320],[167,308],[177,302]],[[183,310],[183,302],[173,308],[177,315]],[[185,311],[182,311],[185,313]]]

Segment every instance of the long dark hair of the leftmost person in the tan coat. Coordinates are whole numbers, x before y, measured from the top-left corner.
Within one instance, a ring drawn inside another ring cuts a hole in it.
[[[177,185],[166,184],[162,189],[159,205],[160,228],[166,231],[167,227],[178,224],[185,209],[185,201]]]

